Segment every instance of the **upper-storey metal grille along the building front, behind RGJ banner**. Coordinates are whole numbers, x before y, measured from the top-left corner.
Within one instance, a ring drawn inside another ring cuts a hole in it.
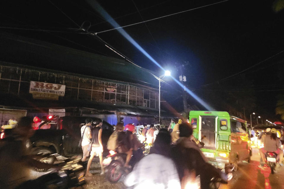
[[[155,91],[157,89],[48,71],[0,66],[1,93],[28,95],[30,81],[65,85],[65,95],[62,98],[159,108],[159,92]]]

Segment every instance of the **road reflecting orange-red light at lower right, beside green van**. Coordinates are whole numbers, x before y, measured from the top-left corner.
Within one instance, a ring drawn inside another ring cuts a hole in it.
[[[284,189],[284,167],[278,168],[274,175],[270,168],[260,169],[258,149],[253,149],[251,159],[251,163],[241,162],[233,179],[227,185],[222,184],[220,189]]]

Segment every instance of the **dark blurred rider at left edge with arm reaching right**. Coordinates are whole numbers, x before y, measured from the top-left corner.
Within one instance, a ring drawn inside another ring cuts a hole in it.
[[[12,135],[0,140],[0,188],[15,188],[30,178],[31,168],[60,170],[61,167],[42,163],[34,158],[41,155],[31,154],[30,137],[33,136],[32,119],[20,118]]]

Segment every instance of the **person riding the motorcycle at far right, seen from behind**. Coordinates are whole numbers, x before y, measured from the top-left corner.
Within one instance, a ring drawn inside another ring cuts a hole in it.
[[[277,130],[272,128],[264,137],[264,148],[259,149],[259,153],[263,162],[267,163],[265,154],[267,151],[274,151],[277,154],[277,160],[282,165],[283,150],[280,149],[281,142],[277,137]]]

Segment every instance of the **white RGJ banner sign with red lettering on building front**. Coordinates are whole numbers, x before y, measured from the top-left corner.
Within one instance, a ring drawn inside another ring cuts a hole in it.
[[[52,96],[64,97],[65,85],[31,81],[30,82],[30,93],[31,94],[50,94]]]

